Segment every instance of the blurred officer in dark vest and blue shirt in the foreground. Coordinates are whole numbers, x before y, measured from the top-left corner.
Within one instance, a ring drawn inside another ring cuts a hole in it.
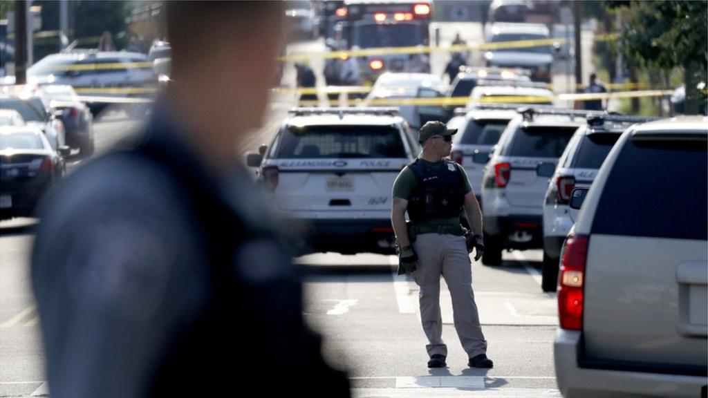
[[[216,397],[261,376],[269,396],[348,397],[236,158],[275,83],[281,7],[166,2],[172,81],[147,126],[45,204],[32,282],[52,398]]]

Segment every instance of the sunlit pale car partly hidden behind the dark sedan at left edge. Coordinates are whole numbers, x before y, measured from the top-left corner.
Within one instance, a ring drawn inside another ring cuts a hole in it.
[[[57,118],[49,101],[42,93],[1,94],[0,109],[16,110],[22,115],[25,124],[39,127],[55,151],[66,145],[64,123]]]

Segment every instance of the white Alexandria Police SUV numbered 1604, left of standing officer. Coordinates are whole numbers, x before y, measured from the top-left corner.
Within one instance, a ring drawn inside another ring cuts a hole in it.
[[[391,254],[391,189],[418,155],[397,108],[294,108],[248,154],[273,207],[307,236],[300,253]]]

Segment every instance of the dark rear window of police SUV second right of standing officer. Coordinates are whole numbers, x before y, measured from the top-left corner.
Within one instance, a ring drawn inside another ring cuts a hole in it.
[[[576,130],[578,127],[519,127],[506,155],[559,158]]]

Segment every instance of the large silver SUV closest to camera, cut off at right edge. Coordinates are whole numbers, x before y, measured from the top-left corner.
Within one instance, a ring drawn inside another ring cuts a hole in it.
[[[629,128],[561,254],[554,357],[564,397],[705,397],[708,118]],[[586,194],[586,196],[585,196]]]

